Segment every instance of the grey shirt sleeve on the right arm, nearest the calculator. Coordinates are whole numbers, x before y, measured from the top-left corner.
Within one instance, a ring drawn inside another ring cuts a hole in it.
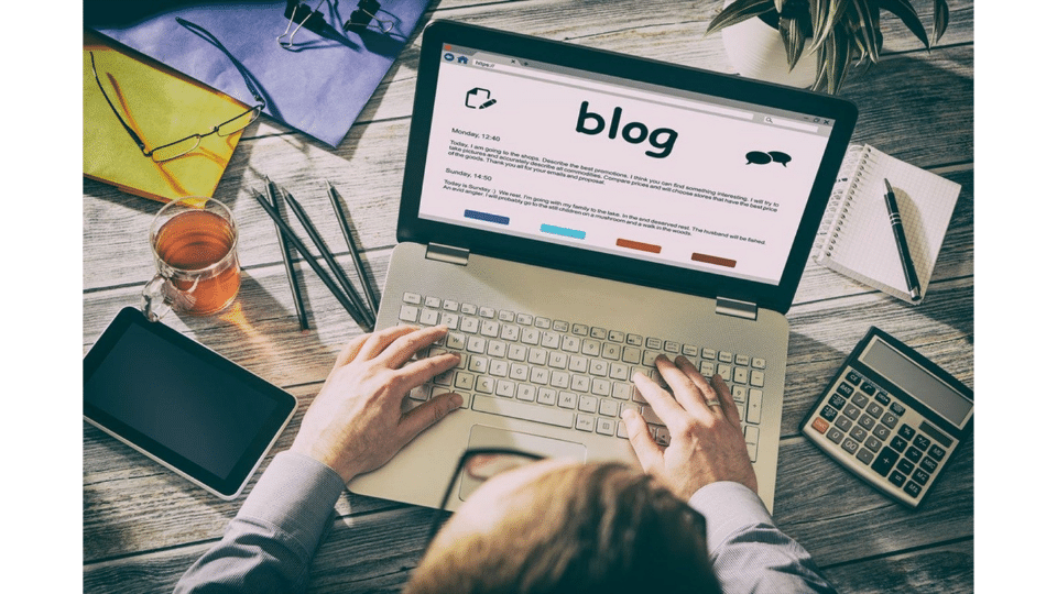
[[[689,503],[705,516],[709,559],[724,593],[836,594],[811,556],[774,526],[749,487],[712,483],[699,488]]]

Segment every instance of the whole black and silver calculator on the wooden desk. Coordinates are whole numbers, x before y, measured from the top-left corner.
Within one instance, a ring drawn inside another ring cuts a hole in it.
[[[972,429],[972,391],[871,327],[800,424],[846,469],[916,508]]]

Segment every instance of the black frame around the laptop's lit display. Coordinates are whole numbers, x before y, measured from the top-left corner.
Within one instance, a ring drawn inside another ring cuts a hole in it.
[[[426,153],[433,127],[435,91],[445,44],[720,96],[775,109],[814,113],[819,118],[835,121],[836,124],[822,155],[781,282],[777,285],[770,285],[732,278],[419,218]],[[468,250],[470,254],[512,260],[701,297],[723,297],[748,301],[784,315],[792,306],[793,296],[804,273],[857,119],[858,109],[854,103],[829,95],[455,21],[437,20],[429,23],[423,33],[396,239],[400,242],[440,243]]]

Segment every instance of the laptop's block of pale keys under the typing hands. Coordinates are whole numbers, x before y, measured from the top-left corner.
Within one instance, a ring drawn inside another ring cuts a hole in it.
[[[682,354],[706,377],[719,373],[730,386],[755,462],[763,359],[414,293],[403,295],[399,318],[448,327],[440,343],[423,354],[462,355],[458,367],[412,391],[410,405],[457,392],[464,408],[613,439],[628,439],[620,415],[635,408],[657,443],[667,446],[667,428],[631,377],[641,372],[667,387],[654,361],[662,353],[672,359]]]

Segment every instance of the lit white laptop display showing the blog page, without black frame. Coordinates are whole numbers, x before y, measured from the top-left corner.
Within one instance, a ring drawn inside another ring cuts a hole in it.
[[[419,217],[781,282],[832,120],[440,52]]]

